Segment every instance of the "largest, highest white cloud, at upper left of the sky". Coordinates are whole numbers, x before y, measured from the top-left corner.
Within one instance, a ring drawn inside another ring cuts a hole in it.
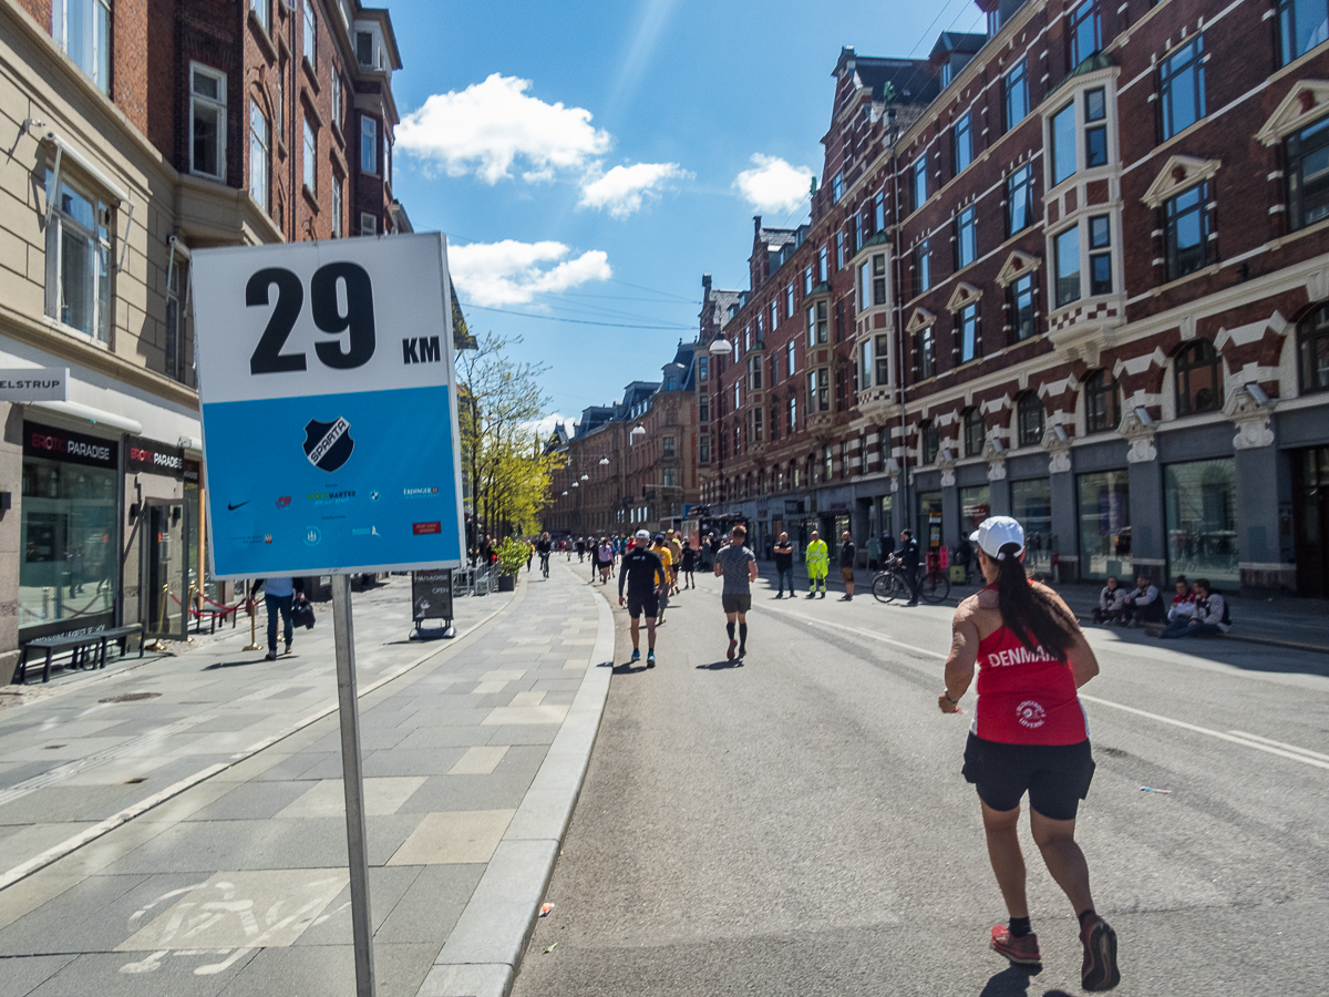
[[[585,108],[545,104],[526,93],[530,80],[493,73],[466,89],[436,93],[396,130],[400,149],[436,161],[448,175],[474,173],[488,183],[512,175],[553,179],[557,170],[585,169],[609,150],[609,133],[593,128]]]

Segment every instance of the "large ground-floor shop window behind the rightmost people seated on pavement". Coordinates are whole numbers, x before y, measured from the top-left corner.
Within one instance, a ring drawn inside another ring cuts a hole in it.
[[[1231,457],[1163,468],[1168,577],[1208,578],[1236,588],[1236,467]]]

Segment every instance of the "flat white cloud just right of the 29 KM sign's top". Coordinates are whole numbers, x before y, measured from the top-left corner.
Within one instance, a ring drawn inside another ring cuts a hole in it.
[[[537,294],[567,291],[614,275],[602,250],[574,258],[570,253],[561,242],[472,242],[449,246],[448,266],[466,300],[484,307],[525,304]]]

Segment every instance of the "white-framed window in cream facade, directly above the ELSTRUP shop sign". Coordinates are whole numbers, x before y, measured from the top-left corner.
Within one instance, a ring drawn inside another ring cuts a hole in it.
[[[47,173],[47,315],[102,343],[110,340],[110,210]]]

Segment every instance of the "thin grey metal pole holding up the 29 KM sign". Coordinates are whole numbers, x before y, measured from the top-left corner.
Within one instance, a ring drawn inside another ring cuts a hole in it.
[[[355,993],[373,997],[373,931],[369,920],[369,856],[364,831],[364,775],[360,771],[360,707],[355,695],[355,627],[351,578],[332,576],[332,635],[342,715],[342,784],[346,790],[346,844],[351,861],[351,935],[355,939]]]

